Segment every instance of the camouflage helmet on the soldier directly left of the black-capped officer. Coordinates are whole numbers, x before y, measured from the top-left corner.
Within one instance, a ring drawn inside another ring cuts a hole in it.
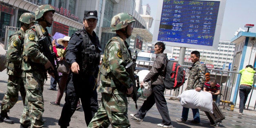
[[[49,4],[44,4],[39,6],[36,10],[35,10],[35,20],[40,19],[44,13],[48,12],[48,11],[53,11],[53,13],[55,13],[55,10],[53,9],[53,7]]]

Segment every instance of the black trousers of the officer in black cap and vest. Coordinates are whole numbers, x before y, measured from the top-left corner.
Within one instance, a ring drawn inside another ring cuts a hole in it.
[[[84,118],[88,126],[99,108],[97,86],[95,85],[93,75],[69,74],[66,86],[65,104],[58,122],[60,126],[69,126],[71,117],[77,108],[79,98],[81,99],[84,109]]]

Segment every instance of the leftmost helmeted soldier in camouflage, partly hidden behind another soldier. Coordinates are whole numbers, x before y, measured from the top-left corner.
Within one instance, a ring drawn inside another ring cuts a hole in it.
[[[24,82],[21,77],[21,63],[22,51],[24,45],[25,31],[28,30],[35,23],[35,16],[31,13],[23,13],[19,19],[21,23],[20,30],[10,36],[8,50],[7,50],[7,92],[4,95],[1,104],[0,121],[13,124],[13,120],[7,115],[7,112],[16,104],[20,95],[22,97],[23,105],[25,103],[26,91]]]

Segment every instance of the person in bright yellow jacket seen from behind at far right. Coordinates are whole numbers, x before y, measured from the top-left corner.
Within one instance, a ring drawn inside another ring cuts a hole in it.
[[[239,87],[239,114],[243,114],[243,108],[245,108],[245,103],[248,97],[248,94],[252,90],[253,77],[255,71],[253,70],[252,65],[247,65],[245,68],[239,71],[241,73],[241,81]]]

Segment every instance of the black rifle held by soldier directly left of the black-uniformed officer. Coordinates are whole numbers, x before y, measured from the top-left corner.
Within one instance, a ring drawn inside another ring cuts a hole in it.
[[[54,74],[54,79],[57,81],[58,85],[60,85],[60,76],[57,72],[57,68],[58,68],[58,62],[57,62],[57,56],[56,54],[53,52],[51,52],[50,48],[49,48],[49,42],[50,40],[47,39],[46,36],[42,37],[41,39],[38,40],[39,44],[41,44],[42,46],[42,50],[43,50],[43,54],[44,56],[47,57],[47,59],[51,62],[51,64],[53,65],[53,70],[52,68],[48,68],[48,72],[49,73],[53,73]],[[55,64],[56,61],[56,64]]]

